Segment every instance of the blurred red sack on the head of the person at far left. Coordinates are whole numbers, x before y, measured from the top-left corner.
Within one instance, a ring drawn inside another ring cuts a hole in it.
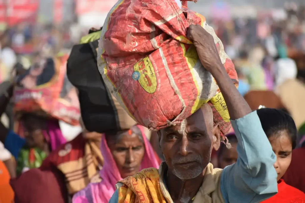
[[[14,112],[24,112],[78,125],[80,108],[75,87],[66,77],[66,59],[40,58],[22,76],[14,90]]]

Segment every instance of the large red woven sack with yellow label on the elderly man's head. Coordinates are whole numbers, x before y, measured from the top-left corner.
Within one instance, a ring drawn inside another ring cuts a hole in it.
[[[204,103],[213,106],[223,134],[228,109],[212,75],[203,68],[187,29],[199,24],[213,37],[227,73],[234,65],[205,18],[175,0],[120,0],[104,23],[98,67],[110,92],[138,123],[151,130],[175,125]]]

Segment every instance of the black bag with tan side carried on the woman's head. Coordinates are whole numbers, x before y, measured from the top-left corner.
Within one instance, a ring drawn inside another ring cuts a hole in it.
[[[74,45],[67,63],[67,76],[78,89],[81,117],[90,132],[128,129],[136,122],[112,97],[97,66],[98,41]]]

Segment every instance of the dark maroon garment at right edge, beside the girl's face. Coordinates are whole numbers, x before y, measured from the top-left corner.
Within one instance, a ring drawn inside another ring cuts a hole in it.
[[[283,176],[288,185],[299,189],[305,193],[305,147],[294,149],[292,151],[292,160],[290,166]]]

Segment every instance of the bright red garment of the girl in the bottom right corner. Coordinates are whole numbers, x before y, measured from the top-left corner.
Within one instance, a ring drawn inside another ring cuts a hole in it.
[[[305,194],[285,183],[284,180],[279,180],[278,194],[262,201],[263,203],[305,203]]]

